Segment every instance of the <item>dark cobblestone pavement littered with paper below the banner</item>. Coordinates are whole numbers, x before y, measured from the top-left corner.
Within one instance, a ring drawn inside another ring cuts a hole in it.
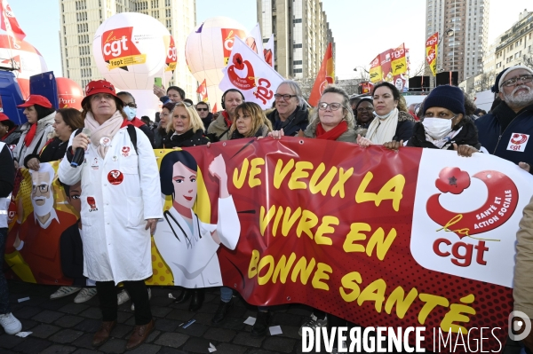
[[[95,350],[91,346],[92,334],[99,327],[101,314],[97,296],[86,303],[74,303],[76,295],[50,300],[57,289],[9,281],[13,314],[22,322],[22,330],[33,332],[26,338],[4,334],[0,326],[0,354],[7,353],[123,353],[126,341],[134,326],[131,302],[118,308],[118,324],[112,338]],[[219,306],[219,290],[207,289],[203,307],[197,312],[187,311],[188,303],[176,304],[169,293],[179,295],[174,287],[152,287],[150,304],[155,317],[155,331],[147,342],[128,353],[209,353],[210,342],[217,348],[215,354],[272,354],[301,353],[301,337],[298,328],[305,322],[310,308],[304,305],[275,306],[270,326],[282,327],[282,334],[267,334],[263,338],[250,335],[251,326],[243,324],[249,316],[256,316],[256,308],[234,299],[235,306],[227,319],[219,326],[211,324],[211,318]],[[29,296],[30,300],[18,303]],[[195,323],[186,329],[178,327],[189,319]],[[323,349],[323,346],[322,346]],[[509,342],[504,354],[519,354],[516,342]]]

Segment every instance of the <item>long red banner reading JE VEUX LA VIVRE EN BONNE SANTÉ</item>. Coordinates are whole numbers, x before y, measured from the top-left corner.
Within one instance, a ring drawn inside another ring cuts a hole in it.
[[[483,348],[502,349],[515,234],[533,194],[533,177],[513,163],[291,137],[155,153],[164,217],[147,284],[224,284],[253,305],[304,303],[360,326],[425,326],[428,350],[434,330],[455,342],[459,331],[499,327]],[[9,209],[12,278],[74,281],[60,271],[59,247],[78,232],[83,191],[50,179],[57,164],[32,176],[22,169]],[[173,184],[175,173],[187,183]]]

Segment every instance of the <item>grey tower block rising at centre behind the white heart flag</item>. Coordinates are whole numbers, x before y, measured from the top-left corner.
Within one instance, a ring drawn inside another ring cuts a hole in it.
[[[274,34],[275,69],[284,77],[317,74],[328,43],[335,43],[319,0],[257,0],[258,21],[267,43]]]

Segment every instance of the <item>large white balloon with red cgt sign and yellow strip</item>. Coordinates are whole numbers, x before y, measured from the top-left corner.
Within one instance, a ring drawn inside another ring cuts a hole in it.
[[[96,31],[92,52],[99,72],[122,90],[153,90],[166,62],[163,24],[138,12],[122,12],[105,20]]]

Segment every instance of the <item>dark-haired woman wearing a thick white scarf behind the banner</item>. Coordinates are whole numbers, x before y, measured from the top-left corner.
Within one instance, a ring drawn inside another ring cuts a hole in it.
[[[400,99],[400,91],[392,83],[379,83],[374,87],[372,97],[378,119],[370,122],[366,138],[377,145],[409,139],[415,120],[407,113],[407,106]]]

